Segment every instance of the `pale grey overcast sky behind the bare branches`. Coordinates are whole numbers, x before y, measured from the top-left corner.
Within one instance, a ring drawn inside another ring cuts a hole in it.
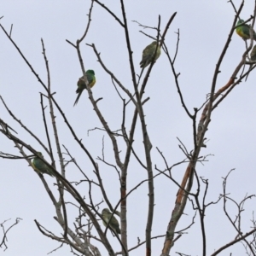
[[[119,1],[104,1],[104,4],[121,19]],[[240,1],[234,1],[238,9]],[[1,4],[0,20],[2,26],[9,31],[13,24],[12,39],[19,46],[22,53],[30,61],[40,78],[46,83],[44,56],[42,55],[41,38],[44,39],[46,55],[49,60],[49,70],[52,90],[56,92],[55,100],[61,106],[68,121],[73,125],[78,137],[83,139],[86,147],[90,149],[102,173],[102,180],[113,205],[119,201],[119,180],[117,173],[110,166],[104,165],[98,156],[102,156],[102,139],[104,138],[105,157],[109,163],[114,164],[112,145],[108,136],[99,130],[90,131],[96,127],[102,128],[95,111],[92,108],[87,92],[84,92],[77,106],[73,107],[76,94],[77,80],[82,75],[79,58],[72,45],[84,34],[88,21],[90,1],[5,1]],[[180,73],[178,81],[183,92],[184,101],[193,113],[194,108],[200,108],[206,101],[207,94],[211,90],[212,77],[219,55],[230,32],[235,12],[227,1],[125,1],[125,13],[131,38],[133,61],[136,73],[140,73],[139,62],[143,49],[152,42],[142,32],[155,36],[155,31],[143,29],[137,22],[146,26],[157,26],[160,15],[161,32],[164,31],[167,21],[177,12],[175,19],[166,35],[166,45],[174,55],[177,45],[177,31],[180,32],[176,70]],[[253,15],[253,1],[247,1],[241,12],[241,18],[248,19]],[[136,20],[137,22],[134,22]],[[33,131],[43,143],[47,143],[44,133],[39,92],[45,92],[38,79],[32,74],[9,39],[0,30],[0,95],[15,113],[18,119]],[[122,102],[119,99],[108,74],[104,72],[97,61],[93,49],[86,44],[95,44],[101,52],[102,61],[111,70],[128,90],[132,91],[131,71],[129,66],[128,51],[125,44],[125,33],[116,20],[106,10],[96,3],[92,10],[91,24],[88,35],[81,44],[81,53],[84,58],[85,69],[93,69],[96,72],[96,85],[93,87],[95,98],[103,98],[98,106],[104,117],[108,120],[113,131],[118,130],[122,121]],[[230,47],[227,50],[224,61],[218,75],[217,90],[226,84],[234,72],[241,55],[245,50],[245,44],[236,34],[233,35]],[[246,67],[247,68],[247,67]],[[227,191],[230,197],[240,202],[246,195],[254,195],[254,171],[256,151],[256,106],[254,103],[256,89],[254,81],[256,71],[250,73],[247,82],[238,84],[230,95],[212,113],[212,120],[207,131],[207,148],[202,148],[201,156],[207,155],[207,161],[198,163],[196,171],[200,177],[209,182],[207,202],[217,201],[223,194],[223,178],[231,172],[228,179]],[[180,144],[177,137],[183,142],[188,151],[193,149],[192,122],[185,113],[172,74],[172,68],[162,51],[160,58],[154,64],[145,90],[145,98],[150,100],[145,104],[144,111],[148,127],[148,133],[153,144],[153,166],[161,170],[165,163],[156,148],[166,156],[168,164],[172,166],[185,158],[178,148]],[[45,102],[47,104],[47,102]],[[47,104],[48,105],[48,104]],[[47,108],[49,109],[49,107]],[[49,113],[49,112],[48,112]],[[133,106],[128,108],[127,130],[130,128]],[[75,157],[83,170],[91,179],[96,180],[93,167],[73,136],[67,129],[61,115],[55,109],[56,124],[59,131],[61,146],[65,145]],[[0,103],[0,118],[8,122],[19,136],[42,151],[46,160],[49,157],[43,148],[24,131]],[[199,114],[200,118],[200,114]],[[48,118],[48,120],[50,120]],[[197,120],[198,121],[198,120]],[[53,139],[53,131],[51,130]],[[121,156],[124,157],[125,148],[122,140],[118,138]],[[140,125],[137,125],[135,147],[138,155],[144,160],[143,137]],[[61,148],[64,151],[64,148]],[[122,151],[123,150],[123,151]],[[0,136],[0,151],[9,154],[19,154],[7,138]],[[55,157],[56,148],[54,148]],[[0,223],[11,218],[8,224],[12,224],[15,218],[22,218],[20,223],[9,231],[8,249],[6,256],[13,255],[38,255],[43,256],[54,250],[59,244],[45,236],[37,229],[34,219],[48,230],[61,234],[61,228],[53,218],[55,209],[44,190],[38,175],[33,172],[26,160],[4,160],[0,158],[0,183],[1,183],[1,211]],[[57,166],[59,168],[59,166]],[[181,181],[186,165],[173,168],[172,174]],[[157,171],[154,170],[154,174]],[[49,186],[55,191],[55,180],[45,177]],[[128,172],[128,190],[134,188],[137,183],[147,178],[147,173],[134,160],[131,159],[131,167]],[[67,166],[67,179],[79,181],[81,175],[78,169]],[[194,188],[194,192],[196,188]],[[203,189],[203,186],[201,187]],[[79,191],[88,199],[88,188],[81,184]],[[166,233],[167,224],[171,218],[172,209],[176,200],[177,186],[166,177],[157,177],[154,181],[155,207],[152,235],[159,236]],[[85,200],[86,200],[85,199]],[[94,200],[102,201],[102,195],[95,191]],[[148,205],[148,189],[144,183],[136,189],[127,201],[128,216],[128,245],[137,244],[137,237],[144,240],[146,213]],[[252,198],[244,205],[241,227],[246,233],[252,227],[251,219],[255,199]],[[107,207],[103,202],[101,209]],[[228,209],[232,218],[236,217],[237,208],[229,203]],[[77,212],[71,206],[68,208],[68,216],[72,225]],[[191,223],[195,214],[191,203],[188,202],[184,215],[177,225],[177,230],[183,230]],[[232,227],[223,211],[223,201],[207,208],[206,212],[207,255],[224,246],[236,237],[236,230]],[[108,233],[109,240],[115,251],[120,251],[119,243]],[[1,240],[1,232],[0,232]],[[163,247],[163,238],[152,241],[152,255],[160,255]],[[107,255],[101,244],[95,243]],[[0,248],[3,253],[3,249]],[[141,246],[130,255],[143,255],[145,247]],[[188,255],[201,255],[201,232],[198,214],[195,224],[175,243],[172,255],[175,252]],[[244,247],[238,243],[235,247],[226,249],[219,255],[244,255]],[[73,255],[70,248],[63,246],[52,255]]]

